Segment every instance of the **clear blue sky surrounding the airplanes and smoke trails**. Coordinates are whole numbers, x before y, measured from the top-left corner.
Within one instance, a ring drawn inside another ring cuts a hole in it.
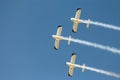
[[[119,80],[103,74],[75,69],[68,77],[66,61],[73,52],[77,64],[104,69],[120,74],[120,55],[105,50],[60,42],[54,50],[54,39],[59,24],[62,36],[109,45],[120,49],[120,32],[80,24],[72,33],[76,8],[81,7],[82,19],[90,18],[120,26],[119,0],[2,0],[0,1],[0,80]]]

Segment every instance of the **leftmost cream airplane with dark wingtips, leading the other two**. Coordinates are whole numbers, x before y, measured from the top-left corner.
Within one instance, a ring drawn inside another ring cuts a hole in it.
[[[55,45],[54,45],[55,50],[59,49],[60,40],[64,40],[63,37],[61,37],[61,32],[62,32],[62,25],[59,25],[56,35],[52,35],[52,37],[55,39]],[[71,36],[69,36],[68,45],[70,45],[70,40],[71,40]]]

